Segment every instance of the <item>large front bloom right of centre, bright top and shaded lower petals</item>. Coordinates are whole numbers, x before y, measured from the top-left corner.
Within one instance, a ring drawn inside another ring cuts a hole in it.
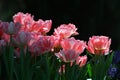
[[[85,42],[75,40],[74,38],[67,38],[61,41],[61,50],[55,55],[64,62],[74,62],[77,57],[84,51]]]

